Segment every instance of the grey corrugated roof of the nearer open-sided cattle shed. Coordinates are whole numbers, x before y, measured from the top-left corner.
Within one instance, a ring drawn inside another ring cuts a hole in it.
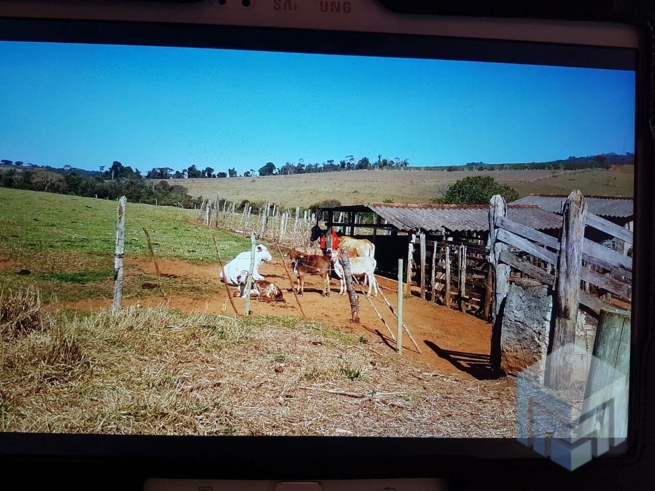
[[[489,230],[489,206],[487,205],[430,205],[401,203],[369,203],[368,208],[386,219],[388,223],[410,232],[425,230],[440,232],[476,232]],[[561,217],[535,205],[509,205],[508,218],[536,228],[553,230],[561,227]]]

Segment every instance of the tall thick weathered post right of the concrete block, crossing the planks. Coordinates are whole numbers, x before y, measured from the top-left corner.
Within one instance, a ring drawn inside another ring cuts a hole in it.
[[[550,335],[547,382],[550,387],[573,386],[573,346],[580,304],[582,243],[587,204],[580,191],[572,191],[562,213],[562,229],[557,257],[557,278],[553,296],[553,323]]]

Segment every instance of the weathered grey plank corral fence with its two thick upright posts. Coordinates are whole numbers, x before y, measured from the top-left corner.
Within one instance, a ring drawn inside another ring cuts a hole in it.
[[[584,196],[579,191],[571,193],[560,214],[561,233],[555,238],[508,219],[507,204],[502,196],[491,198],[489,259],[493,268],[495,319],[491,363],[495,367],[500,363],[499,345],[494,340],[499,339],[499,318],[514,270],[553,288],[552,348],[549,352],[554,358],[550,360],[549,384],[569,387],[572,384],[572,352],[567,350],[572,350],[574,344],[579,306],[598,317],[601,310],[616,308],[608,303],[611,297],[607,294],[618,297],[620,306],[627,310],[632,299],[632,258],[585,238],[585,228],[601,230],[625,244],[633,243],[633,234],[588,213]],[[627,251],[628,247],[625,249]],[[526,257],[538,258],[545,268]]]

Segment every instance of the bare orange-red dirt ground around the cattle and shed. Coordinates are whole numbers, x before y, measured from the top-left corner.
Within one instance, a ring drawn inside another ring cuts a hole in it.
[[[135,261],[126,259],[128,265],[136,266],[126,270],[126,274],[154,274],[155,268],[150,261]],[[184,261],[160,260],[159,268],[162,275],[175,274],[194,279],[212,280],[216,284],[216,293],[204,299],[193,299],[184,296],[168,297],[171,308],[183,312],[208,312],[210,314],[233,314],[232,307],[225,293],[225,285],[218,280],[217,266],[198,266]],[[290,289],[290,282],[282,263],[272,261],[260,266],[259,272],[276,283],[283,291],[286,302],[272,304],[251,302],[250,310],[255,315],[299,316],[300,310]],[[231,292],[234,292],[231,287]],[[371,343],[386,345],[386,349],[395,348],[384,324],[378,318],[371,305],[360,295],[359,324],[350,321],[350,303],[347,296],[338,295],[339,282],[331,282],[331,295],[322,297],[322,281],[318,276],[308,276],[305,280],[305,295],[301,298],[303,310],[307,316],[322,321],[325,325],[355,335],[364,336]],[[358,291],[360,287],[358,287]],[[394,303],[395,291],[384,290],[384,295]],[[141,304],[155,306],[163,302],[161,295],[140,299],[124,299],[126,305]],[[371,301],[379,310],[392,331],[396,329],[396,318],[379,295]],[[79,310],[97,310],[111,304],[109,299],[77,300],[50,304],[49,310],[56,308],[76,308]],[[234,299],[239,312],[244,308],[244,300]],[[411,344],[408,336],[403,335],[403,353],[407,357],[422,359],[441,373],[463,373],[471,378],[483,379],[489,373],[489,340],[491,325],[469,314],[463,314],[417,297],[405,298],[403,303],[403,320],[414,336],[421,353]]]

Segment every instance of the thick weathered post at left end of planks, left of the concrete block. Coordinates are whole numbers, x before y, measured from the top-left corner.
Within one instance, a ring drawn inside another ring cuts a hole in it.
[[[502,242],[496,242],[498,229],[496,228],[496,218],[507,216],[507,202],[500,194],[491,196],[489,200],[489,267],[493,268],[493,316],[491,324],[491,348],[489,351],[489,361],[493,371],[500,370],[500,331],[501,316],[500,311],[504,305],[505,297],[510,291],[510,266],[498,261],[500,253],[507,249]]]

